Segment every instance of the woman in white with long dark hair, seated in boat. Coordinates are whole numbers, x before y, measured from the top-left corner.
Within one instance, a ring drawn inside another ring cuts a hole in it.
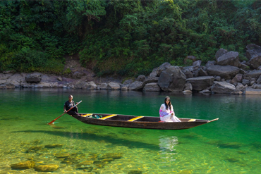
[[[164,100],[164,104],[159,108],[159,116],[160,120],[164,122],[181,122],[173,111],[173,106],[171,104],[171,99],[166,97]]]

